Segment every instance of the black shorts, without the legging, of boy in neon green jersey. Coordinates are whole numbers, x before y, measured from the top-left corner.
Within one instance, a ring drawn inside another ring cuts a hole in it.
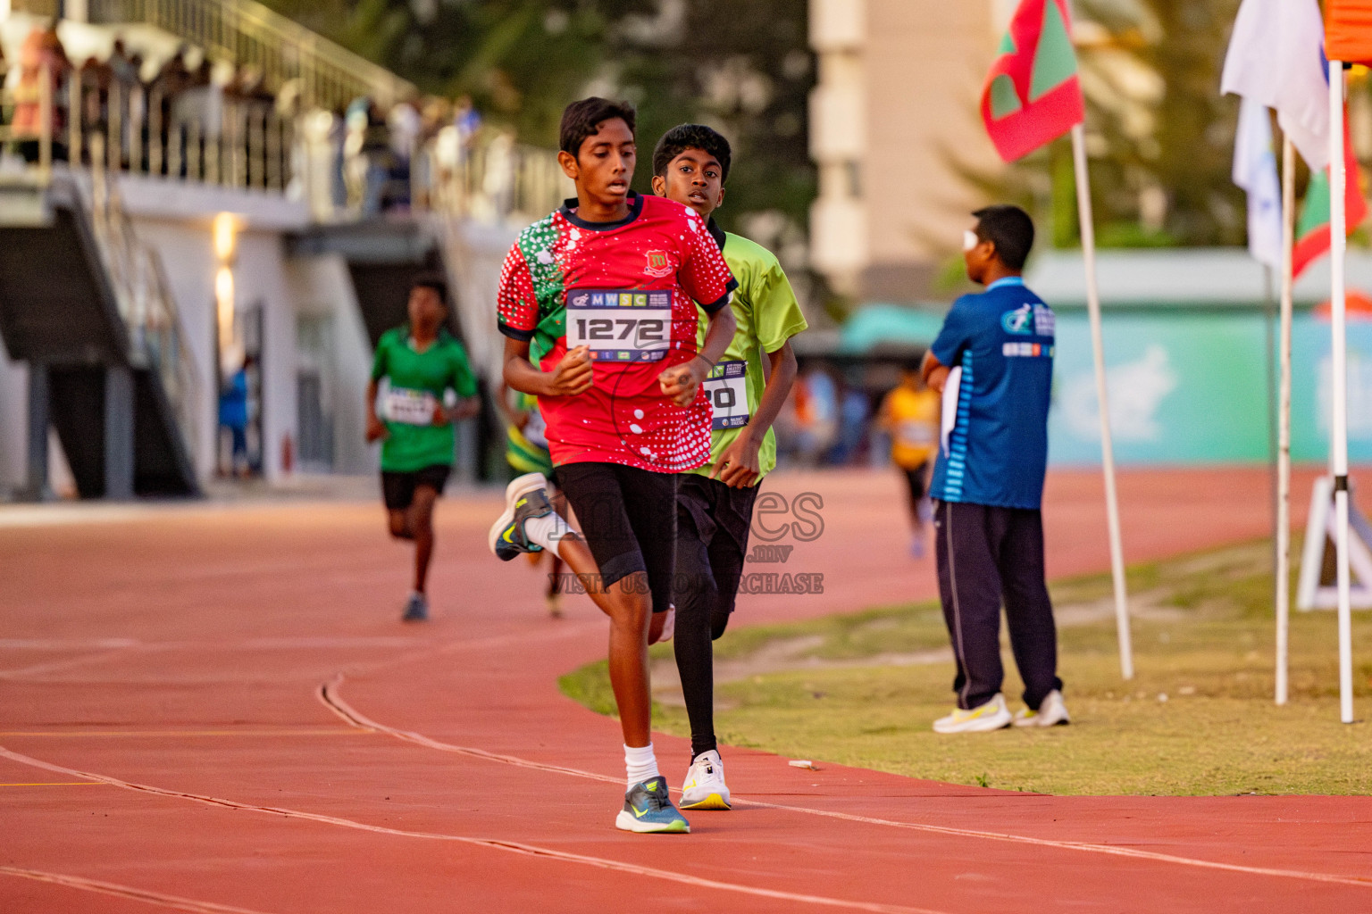
[[[705,607],[705,618],[734,611],[760,488],[735,489],[698,473],[682,474],[676,491],[678,610],[689,599],[682,588],[698,588],[716,593],[715,606]],[[713,578],[715,588],[702,580],[705,576]]]

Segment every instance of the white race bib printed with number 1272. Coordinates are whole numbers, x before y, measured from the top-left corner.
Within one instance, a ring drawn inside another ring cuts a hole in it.
[[[660,362],[672,336],[672,293],[572,289],[567,293],[567,348],[584,345],[597,362]]]

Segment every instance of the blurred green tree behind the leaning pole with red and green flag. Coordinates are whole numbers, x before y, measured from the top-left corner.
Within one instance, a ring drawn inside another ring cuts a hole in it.
[[[1232,181],[1238,100],[1220,71],[1239,0],[1078,0],[1091,199],[1100,247],[1243,244]],[[1069,138],[974,186],[1037,211],[1055,247],[1080,244]]]

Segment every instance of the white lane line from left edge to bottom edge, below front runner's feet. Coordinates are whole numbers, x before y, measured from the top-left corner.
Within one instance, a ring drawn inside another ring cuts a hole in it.
[[[44,762],[43,759],[36,759],[27,755],[21,755],[19,752],[11,752],[10,750],[0,747],[0,758],[10,759],[11,762],[18,762],[19,765],[29,765],[33,767],[44,769],[47,771],[56,771],[60,774],[70,774],[73,777],[85,777],[93,781],[100,781],[103,784],[110,784],[111,787],[121,787],[126,791],[136,791],[140,793],[152,793],[156,796],[169,796],[181,800],[193,800],[196,803],[206,803],[209,806],[221,806],[230,810],[244,810],[250,813],[266,813],[268,815],[280,815],[284,818],[303,819],[307,822],[320,822],[324,825],[338,825],[340,828],[357,829],[361,832],[372,832],[375,835],[392,835],[397,837],[416,837],[427,839],[432,841],[454,841],[458,844],[471,844],[476,847],[488,847],[497,851],[508,851],[512,854],[520,854],[524,856],[535,856],[550,861],[563,861],[565,863],[580,863],[583,866],[594,866],[602,870],[615,870],[617,873],[630,873],[634,876],[646,876],[650,878],[668,880],[672,882],[681,882],[683,885],[694,885],[697,888],[711,888],[724,892],[737,892],[741,895],[752,895],[755,898],[770,898],[782,902],[797,902],[801,904],[816,904],[822,907],[840,907],[853,911],[873,911],[874,914],[947,914],[947,911],[936,911],[927,907],[904,907],[899,904],[877,904],[873,902],[849,902],[840,898],[829,898],[825,895],[803,895],[800,892],[783,892],[770,888],[757,888],[753,885],[741,885],[738,882],[722,882],[719,880],[707,880],[698,876],[687,876],[685,873],[674,873],[671,870],[660,870],[652,866],[639,866],[638,863],[626,863],[623,861],[613,861],[604,856],[589,856],[584,854],[571,854],[568,851],[554,851],[547,847],[539,847],[536,844],[524,844],[520,841],[506,841],[501,839],[490,837],[469,837],[466,835],[445,835],[442,832],[409,832],[405,829],[387,828],[384,825],[369,825],[366,822],[358,822],[355,819],[344,819],[336,815],[322,815],[320,813],[305,813],[302,810],[292,810],[281,806],[257,806],[252,803],[240,803],[237,800],[226,800],[217,796],[206,796],[203,793],[188,793],[185,791],[172,791],[162,787],[152,787],[150,784],[137,784],[133,781],[123,781],[117,777],[110,777],[108,774],[96,774],[95,771],[82,771],[78,769],[64,767],[62,765],[55,765],[52,762]],[[233,911],[237,913],[241,909],[195,909],[204,911]],[[248,911],[247,914],[258,914],[257,911]]]

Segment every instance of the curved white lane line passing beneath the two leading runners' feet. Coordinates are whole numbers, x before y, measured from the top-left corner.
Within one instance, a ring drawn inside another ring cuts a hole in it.
[[[541,771],[552,771],[556,774],[569,774],[572,777],[590,778],[593,781],[612,781],[619,784],[622,778],[608,777],[605,774],[595,774],[594,771],[584,771],[575,767],[561,767],[557,765],[543,765],[539,762],[532,762],[530,759],[521,759],[514,755],[498,755],[495,752],[487,752],[484,750],[476,750],[465,745],[453,745],[450,743],[440,743],[432,740],[421,733],[413,733],[410,730],[398,730],[395,728],[387,726],[369,717],[359,714],[351,704],[343,700],[339,695],[339,688],[343,684],[343,676],[335,677],[331,682],[325,682],[316,696],[328,707],[331,711],[338,714],[340,718],[351,724],[353,726],[379,730],[381,733],[388,733],[397,739],[405,740],[407,743],[416,743],[431,750],[439,750],[442,752],[456,752],[458,755],[468,755],[472,758],[479,758],[490,762],[501,762],[505,765],[514,765],[519,767],[531,767]],[[1159,854],[1157,851],[1143,851],[1133,847],[1120,847],[1115,844],[1091,844],[1087,841],[1059,841],[1054,839],[1030,837],[1028,835],[1007,835],[1002,832],[982,832],[977,829],[952,828],[947,825],[925,825],[919,822],[897,822],[893,819],[874,818],[870,815],[855,815],[852,813],[836,813],[830,810],[816,810],[808,806],[790,806],[785,803],[767,803],[764,800],[742,800],[735,799],[735,803],[744,806],[757,806],[768,810],[783,810],[788,813],[804,813],[807,815],[822,815],[825,818],[841,819],[845,822],[860,822],[864,825],[881,825],[885,828],[899,828],[911,832],[927,832],[932,835],[951,835],[958,837],[973,837],[985,839],[992,841],[1006,841],[1011,844],[1030,844],[1036,847],[1054,847],[1069,851],[1083,851],[1088,854],[1106,854],[1110,856],[1128,856],[1142,861],[1151,861],[1157,863],[1176,863],[1180,866],[1195,866],[1211,870],[1227,870],[1231,873],[1246,873],[1249,876],[1272,876],[1279,878],[1295,878],[1308,880],[1313,882],[1334,882],[1336,885],[1356,885],[1358,888],[1372,888],[1372,878],[1358,878],[1351,876],[1332,876],[1328,873],[1308,873],[1303,870],[1283,870],[1265,866],[1244,866],[1242,863],[1220,863],[1216,861],[1200,861],[1191,856],[1177,856],[1173,854]]]

